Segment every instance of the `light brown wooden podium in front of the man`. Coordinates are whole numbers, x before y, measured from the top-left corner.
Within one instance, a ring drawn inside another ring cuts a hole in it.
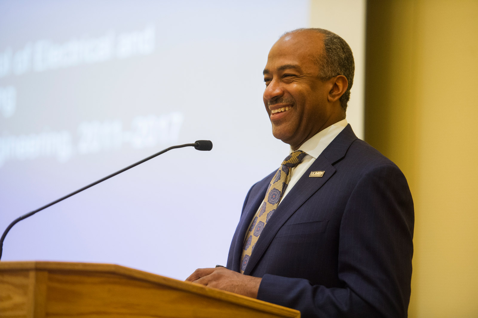
[[[300,317],[294,309],[112,264],[0,262],[0,317]]]

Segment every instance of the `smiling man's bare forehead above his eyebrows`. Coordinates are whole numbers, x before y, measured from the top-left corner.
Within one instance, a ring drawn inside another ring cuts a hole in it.
[[[320,56],[323,46],[322,34],[317,32],[286,34],[272,45],[264,71],[272,72],[283,68],[284,65],[316,70],[316,59]]]

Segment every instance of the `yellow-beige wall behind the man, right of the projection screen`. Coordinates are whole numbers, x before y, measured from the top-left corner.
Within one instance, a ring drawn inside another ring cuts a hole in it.
[[[478,1],[369,0],[366,35],[365,139],[415,202],[409,317],[478,317]]]

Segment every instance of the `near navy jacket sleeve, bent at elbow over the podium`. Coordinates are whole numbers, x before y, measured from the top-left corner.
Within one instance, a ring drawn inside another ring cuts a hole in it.
[[[348,198],[339,228],[343,287],[265,274],[258,299],[295,308],[302,317],[407,317],[413,255],[413,200],[392,164],[364,174]]]

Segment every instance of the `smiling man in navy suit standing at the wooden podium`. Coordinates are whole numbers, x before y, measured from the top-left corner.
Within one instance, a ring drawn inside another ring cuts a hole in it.
[[[413,201],[400,169],[345,119],[353,74],[335,33],[298,29],[272,46],[263,99],[290,155],[250,188],[227,268],[188,281],[302,317],[407,316]]]

